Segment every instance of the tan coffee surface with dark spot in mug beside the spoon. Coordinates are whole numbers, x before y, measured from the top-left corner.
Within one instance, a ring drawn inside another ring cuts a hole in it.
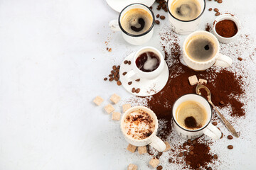
[[[206,108],[196,101],[184,101],[176,110],[176,120],[188,130],[200,129],[206,124]]]

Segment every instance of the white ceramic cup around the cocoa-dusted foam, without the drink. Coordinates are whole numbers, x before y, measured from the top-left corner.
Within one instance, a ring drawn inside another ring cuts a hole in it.
[[[133,137],[131,137],[130,135],[127,135],[126,130],[124,129],[125,123],[124,120],[127,118],[127,115],[129,115],[129,113],[132,113],[133,111],[138,111],[138,110],[142,110],[146,113],[148,113],[150,115],[150,117],[153,119],[154,123],[154,131],[151,133],[151,135],[149,135],[149,137],[146,137],[143,140],[139,140],[139,139],[134,139]],[[143,147],[146,145],[150,145],[151,147],[154,147],[155,149],[159,150],[159,152],[163,152],[166,149],[166,145],[165,143],[156,136],[156,132],[158,129],[158,120],[156,118],[156,114],[151,111],[151,109],[146,108],[144,106],[135,106],[132,108],[129,108],[124,115],[122,116],[121,119],[121,130],[122,130],[122,134],[124,135],[124,139],[127,140],[127,142],[129,142],[130,144],[137,146],[137,147]]]

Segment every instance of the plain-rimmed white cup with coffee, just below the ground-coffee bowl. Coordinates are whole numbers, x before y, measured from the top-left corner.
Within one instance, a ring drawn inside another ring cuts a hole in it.
[[[212,33],[198,30],[183,42],[183,60],[188,67],[203,71],[210,67],[230,67],[232,59],[220,54],[220,42]]]

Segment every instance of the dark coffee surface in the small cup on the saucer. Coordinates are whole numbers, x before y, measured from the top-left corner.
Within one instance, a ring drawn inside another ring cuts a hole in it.
[[[159,67],[160,59],[154,52],[143,52],[135,62],[142,72],[153,72]]]

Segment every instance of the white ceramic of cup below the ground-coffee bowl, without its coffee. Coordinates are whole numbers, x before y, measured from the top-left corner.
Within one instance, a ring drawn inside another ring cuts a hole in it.
[[[206,38],[209,38],[213,42],[213,47],[215,48],[215,55],[210,58],[210,60],[204,61],[204,62],[198,62],[196,60],[193,60],[191,57],[189,57],[187,52],[188,44],[190,43],[193,38],[196,38],[196,36],[205,36]],[[220,42],[218,42],[218,39],[213,35],[212,33],[209,33],[205,30],[198,30],[190,35],[185,39],[183,42],[183,60],[186,62],[188,67],[191,69],[194,69],[196,71],[203,71],[206,69],[209,69],[210,67],[214,66],[220,66],[220,67],[230,67],[232,64],[232,59],[226,55],[220,54]]]

